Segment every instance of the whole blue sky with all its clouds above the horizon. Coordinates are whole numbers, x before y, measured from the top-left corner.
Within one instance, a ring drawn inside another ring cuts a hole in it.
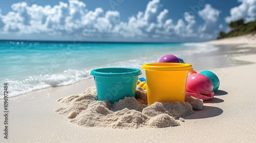
[[[0,1],[0,40],[200,42],[256,19],[256,0]]]

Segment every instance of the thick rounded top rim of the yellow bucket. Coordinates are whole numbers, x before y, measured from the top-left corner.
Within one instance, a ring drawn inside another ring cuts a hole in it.
[[[146,63],[143,64],[141,68],[160,71],[189,70],[192,69],[192,65],[188,63]]]

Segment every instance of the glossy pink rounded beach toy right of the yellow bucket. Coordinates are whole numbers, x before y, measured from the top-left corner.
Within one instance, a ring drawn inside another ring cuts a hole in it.
[[[186,94],[202,100],[214,97],[211,81],[202,74],[193,74],[187,77]]]

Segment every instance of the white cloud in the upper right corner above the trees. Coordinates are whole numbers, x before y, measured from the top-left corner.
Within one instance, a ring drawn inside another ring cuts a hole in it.
[[[230,9],[230,16],[225,17],[225,21],[229,23],[233,20],[245,18],[245,22],[256,19],[256,1],[255,0],[238,0],[242,3],[238,7]]]

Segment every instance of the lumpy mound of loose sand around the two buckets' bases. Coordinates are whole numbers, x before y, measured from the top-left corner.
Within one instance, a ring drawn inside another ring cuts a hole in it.
[[[188,96],[182,103],[156,102],[147,105],[146,91],[141,87],[136,90],[136,98],[125,97],[114,104],[97,101],[95,87],[89,87],[81,94],[63,97],[57,101],[64,106],[55,111],[70,118],[71,123],[84,127],[119,129],[179,126],[179,118],[193,113],[194,110],[203,109],[202,100]]]

